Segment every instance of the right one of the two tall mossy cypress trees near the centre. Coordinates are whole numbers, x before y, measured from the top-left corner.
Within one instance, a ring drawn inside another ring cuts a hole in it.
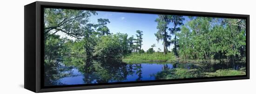
[[[174,44],[174,48],[173,48],[173,52],[175,54],[175,56],[179,57],[178,54],[178,41],[176,38],[176,33],[181,31],[181,28],[178,26],[183,25],[182,21],[185,20],[183,18],[183,16],[180,15],[168,15],[168,19],[170,20],[171,23],[173,23],[173,27],[169,28],[168,30],[170,31],[170,34],[174,35],[174,40],[173,40],[173,44]]]

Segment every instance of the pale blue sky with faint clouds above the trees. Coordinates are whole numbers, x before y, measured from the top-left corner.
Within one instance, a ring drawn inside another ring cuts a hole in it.
[[[136,30],[143,31],[143,42],[142,49],[145,51],[151,47],[152,44],[156,44],[154,50],[161,48],[163,51],[162,41],[159,43],[156,41],[155,33],[158,31],[156,29],[157,22],[155,19],[158,17],[157,14],[146,14],[146,13],[121,13],[121,12],[105,12],[97,11],[98,15],[92,15],[90,18],[90,23],[97,23],[97,19],[103,18],[108,19],[110,23],[107,25],[110,33],[116,34],[118,32],[123,34],[128,34],[128,37],[136,34]],[[188,17],[185,16],[185,21]],[[172,25],[170,25],[172,26]],[[173,46],[171,45],[170,48]],[[170,49],[168,48],[168,49]]]

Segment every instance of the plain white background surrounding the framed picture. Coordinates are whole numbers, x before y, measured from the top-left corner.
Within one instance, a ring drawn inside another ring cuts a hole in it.
[[[0,0],[0,94],[24,89],[24,5],[35,0]],[[256,93],[256,3],[254,0],[42,0],[250,15],[250,79],[144,87],[53,92],[50,94],[254,94]]]

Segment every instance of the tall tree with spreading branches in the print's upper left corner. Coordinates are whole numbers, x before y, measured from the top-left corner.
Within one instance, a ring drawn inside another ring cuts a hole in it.
[[[72,40],[67,41],[67,43],[74,45],[74,47],[69,46],[72,51],[69,50],[68,54],[75,54],[76,50],[80,50],[78,55],[91,56],[95,45],[93,34],[96,27],[94,24],[89,23],[89,17],[96,14],[95,11],[87,10],[45,8],[44,40],[48,41],[50,37],[60,32],[76,39],[74,42]]]

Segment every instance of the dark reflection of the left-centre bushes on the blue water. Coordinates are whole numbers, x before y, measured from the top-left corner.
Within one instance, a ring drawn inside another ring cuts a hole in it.
[[[84,75],[85,83],[124,81],[127,75],[133,72],[131,67],[122,63],[121,60],[67,57],[63,62],[65,65],[77,67],[79,72]]]

